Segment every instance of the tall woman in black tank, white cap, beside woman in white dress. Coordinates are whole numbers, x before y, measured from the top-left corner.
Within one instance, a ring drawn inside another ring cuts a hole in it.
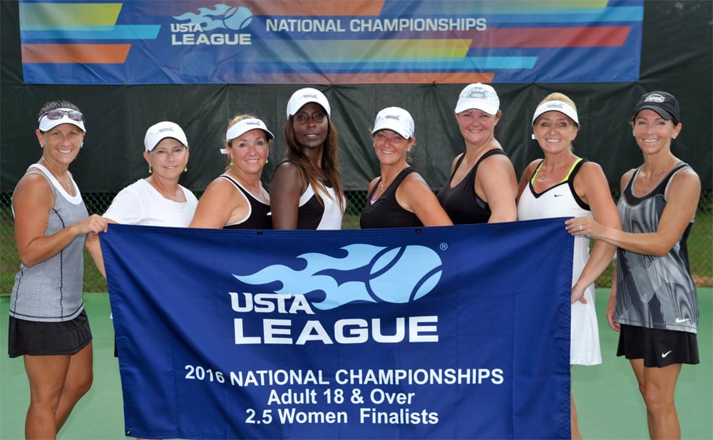
[[[494,137],[502,113],[498,94],[487,84],[470,84],[455,113],[466,153],[453,160],[438,201],[456,225],[517,220],[515,168]]]

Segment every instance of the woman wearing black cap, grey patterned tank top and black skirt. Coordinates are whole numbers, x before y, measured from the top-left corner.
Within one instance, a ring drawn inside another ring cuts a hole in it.
[[[682,128],[673,95],[645,93],[631,123],[644,163],[622,176],[617,208],[623,230],[587,217],[566,224],[573,235],[589,235],[619,248],[607,307],[610,327],[620,332],[617,356],[630,360],[646,404],[650,437],[680,439],[676,382],[682,364],[699,362],[699,309],[686,240],[701,182],[671,153],[671,142]]]

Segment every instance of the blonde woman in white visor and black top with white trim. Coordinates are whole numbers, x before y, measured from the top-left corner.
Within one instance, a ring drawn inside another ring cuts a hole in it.
[[[230,162],[205,188],[190,227],[272,229],[270,195],[260,177],[273,138],[265,123],[254,116],[232,119],[222,150]]]

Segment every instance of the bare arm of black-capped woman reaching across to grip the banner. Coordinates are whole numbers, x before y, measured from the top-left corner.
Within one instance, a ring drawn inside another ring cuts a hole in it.
[[[589,235],[631,252],[661,257],[670,252],[694,217],[700,193],[698,175],[687,168],[671,179],[666,207],[656,232],[622,232],[582,217],[567,220],[567,230],[573,235]]]

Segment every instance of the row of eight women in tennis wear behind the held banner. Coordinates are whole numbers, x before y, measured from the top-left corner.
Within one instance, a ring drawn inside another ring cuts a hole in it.
[[[28,438],[53,438],[92,380],[91,330],[81,301],[82,247],[103,272],[98,233],[109,222],[175,227],[339,229],[346,201],[339,180],[337,129],[329,101],[314,88],[287,103],[287,151],[266,189],[270,130],[259,118],[234,118],[225,133],[227,166],[200,200],[179,185],[189,148],[164,121],[145,135],[148,178],[122,190],[103,216],[88,215],[68,166],[86,134],[67,101],[46,103],[36,135],[42,155],[12,198],[21,269],[10,304],[9,354],[24,356],[31,401]],[[680,436],[674,387],[682,364],[697,364],[698,308],[686,239],[700,181],[671,152],[682,123],[670,93],[645,93],[631,117],[644,158],[622,176],[615,205],[602,168],[575,155],[575,103],[552,93],[535,109],[533,137],[543,151],[520,182],[495,127],[500,100],[487,84],[463,88],[455,118],[466,150],[434,195],[409,165],[414,120],[399,107],[379,111],[371,129],[380,174],[369,183],[361,227],[414,227],[568,217],[575,237],[570,364],[602,362],[594,281],[615,255],[607,321],[620,332],[618,356],[630,359],[647,406],[652,438]],[[86,237],[86,243],[85,243]],[[596,240],[591,253],[589,241]],[[580,437],[571,400],[572,436]]]

